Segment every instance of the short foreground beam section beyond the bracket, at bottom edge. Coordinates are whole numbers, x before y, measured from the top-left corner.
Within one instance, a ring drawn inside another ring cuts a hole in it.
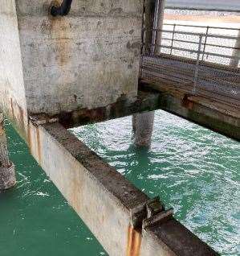
[[[159,222],[142,233],[144,256],[209,256],[219,255],[175,219]]]

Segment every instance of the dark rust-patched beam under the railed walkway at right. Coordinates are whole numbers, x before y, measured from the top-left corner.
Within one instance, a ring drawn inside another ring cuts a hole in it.
[[[159,109],[195,122],[226,137],[240,141],[238,106],[224,109],[213,99],[180,93],[174,88],[159,84],[142,84],[142,89],[156,89],[160,94]]]

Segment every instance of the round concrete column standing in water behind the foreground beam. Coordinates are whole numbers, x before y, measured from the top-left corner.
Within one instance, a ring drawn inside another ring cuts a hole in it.
[[[132,130],[136,147],[150,147],[154,123],[154,111],[132,116]]]

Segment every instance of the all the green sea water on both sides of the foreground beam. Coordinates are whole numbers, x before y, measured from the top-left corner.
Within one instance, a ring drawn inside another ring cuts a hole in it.
[[[18,184],[0,194],[0,256],[107,255],[6,126]],[[222,255],[239,253],[238,142],[163,111],[149,151],[132,146],[131,118],[71,130]],[[123,252],[124,255],[124,252]]]

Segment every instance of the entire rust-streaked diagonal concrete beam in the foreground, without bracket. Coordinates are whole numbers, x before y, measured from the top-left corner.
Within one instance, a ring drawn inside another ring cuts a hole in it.
[[[108,254],[217,255],[173,217],[142,228],[148,196],[59,123],[29,126],[31,153]]]

